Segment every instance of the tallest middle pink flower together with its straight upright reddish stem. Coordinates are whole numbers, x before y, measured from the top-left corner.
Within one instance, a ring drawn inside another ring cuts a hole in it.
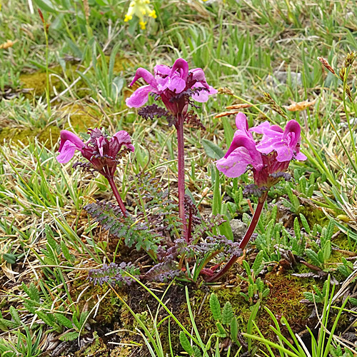
[[[144,79],[146,86],[141,86],[136,89],[131,96],[126,99],[126,105],[129,108],[139,108],[144,106],[149,99],[149,94],[155,95],[155,99],[161,99],[166,107],[167,116],[171,116],[176,131],[177,131],[177,146],[178,146],[178,208],[183,226],[183,236],[186,241],[189,241],[189,233],[187,230],[186,216],[184,209],[185,196],[185,173],[184,173],[184,144],[183,144],[183,124],[188,121],[199,123],[197,118],[193,119],[193,114],[188,111],[188,106],[194,106],[194,101],[206,102],[208,96],[216,94],[216,89],[209,86],[206,82],[206,77],[202,69],[188,69],[188,63],[184,59],[176,59],[174,66],[170,68],[162,64],[156,65],[154,74],[151,74],[144,68],[136,70],[131,86],[138,81]],[[141,115],[152,117],[153,115],[165,115],[162,109],[156,104],[147,106],[141,110]],[[201,123],[199,123],[201,124]],[[199,127],[202,127],[202,125]]]

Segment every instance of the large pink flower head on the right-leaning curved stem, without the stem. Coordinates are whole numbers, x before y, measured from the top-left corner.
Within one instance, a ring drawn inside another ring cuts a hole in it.
[[[300,152],[301,129],[295,120],[288,121],[285,131],[268,121],[248,129],[246,116],[238,113],[236,127],[226,155],[216,161],[217,169],[228,177],[241,176],[250,166],[256,185],[270,188],[281,179],[291,159],[306,160]],[[252,132],[263,134],[262,140],[256,143]]]

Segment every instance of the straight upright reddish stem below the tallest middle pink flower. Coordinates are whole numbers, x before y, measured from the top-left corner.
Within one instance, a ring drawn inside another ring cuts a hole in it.
[[[183,116],[177,114],[177,181],[178,181],[178,211],[182,221],[183,237],[188,241],[185,217],[185,151],[183,142]]]

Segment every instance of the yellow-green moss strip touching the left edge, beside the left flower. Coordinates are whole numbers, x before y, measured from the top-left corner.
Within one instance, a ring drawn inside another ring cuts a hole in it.
[[[28,145],[29,141],[37,138],[41,144],[45,144],[47,149],[51,149],[51,144],[54,144],[59,139],[59,128],[57,126],[46,126],[45,129],[23,129],[5,127],[0,131],[0,142],[4,140],[12,140],[13,143],[21,141],[24,145]]]

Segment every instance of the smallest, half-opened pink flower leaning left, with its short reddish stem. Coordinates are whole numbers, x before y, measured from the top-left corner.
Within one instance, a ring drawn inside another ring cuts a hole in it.
[[[86,143],[71,131],[61,131],[61,143],[59,145],[60,154],[57,161],[62,164],[69,162],[76,150],[81,151],[82,156],[89,161],[87,164],[80,164],[85,169],[93,169],[103,175],[113,190],[116,201],[118,201],[121,211],[126,216],[126,208],[118,189],[114,182],[114,174],[119,159],[130,151],[134,151],[131,144],[131,137],[124,131],[118,131],[109,140],[101,129],[89,129],[90,139]]]

